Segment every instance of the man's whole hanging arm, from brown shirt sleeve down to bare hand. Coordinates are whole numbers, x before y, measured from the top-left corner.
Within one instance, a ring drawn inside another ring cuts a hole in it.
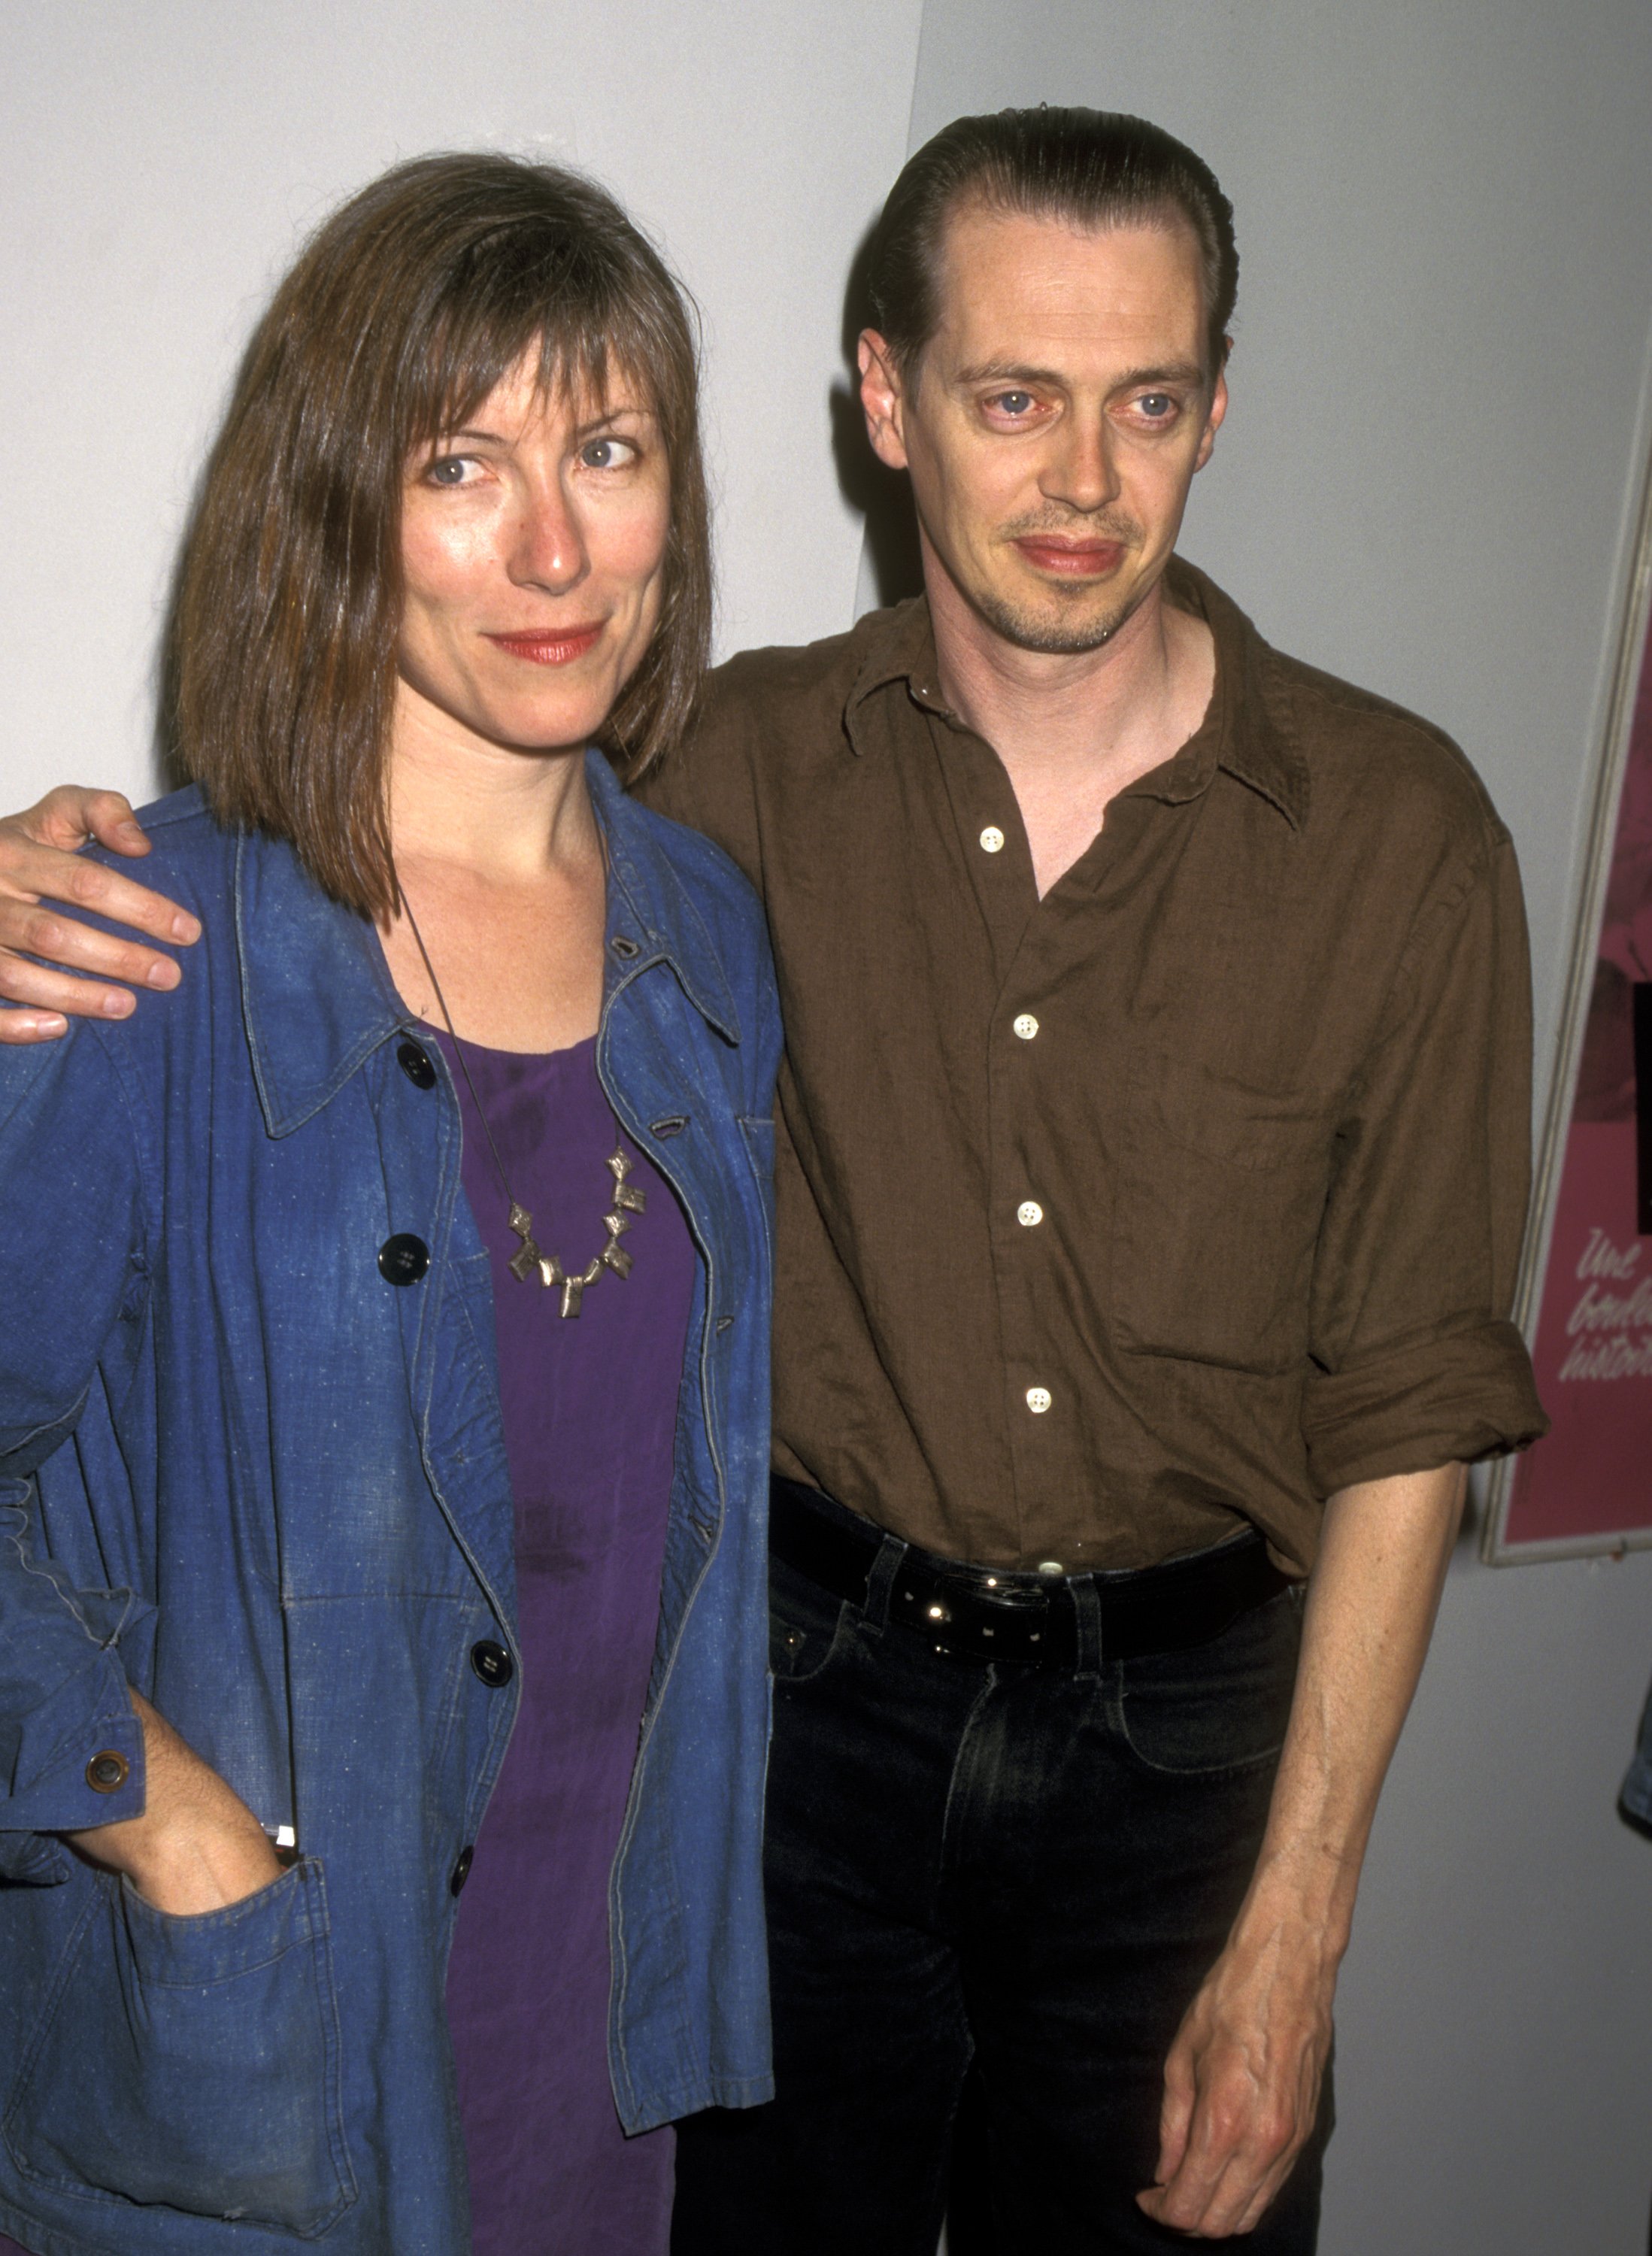
[[[1165,2066],[1158,2184],[1140,2195],[1205,2238],[1257,2222],[1313,2127],[1365,1839],[1462,1512],[1456,1460],[1546,1426],[1508,1322],[1530,1139],[1519,873],[1456,763],[1413,776],[1429,882],[1347,1090],[1313,1261],[1302,1439],[1329,1502],[1295,1703],[1250,1893]]]

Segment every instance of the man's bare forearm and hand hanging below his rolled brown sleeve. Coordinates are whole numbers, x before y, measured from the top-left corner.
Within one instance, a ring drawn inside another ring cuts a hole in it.
[[[1158,2182],[1137,2195],[1160,2224],[1248,2233],[1313,2130],[1359,1870],[1462,1487],[1449,1464],[1359,1482],[1325,1507],[1257,1870],[1165,2064]]]

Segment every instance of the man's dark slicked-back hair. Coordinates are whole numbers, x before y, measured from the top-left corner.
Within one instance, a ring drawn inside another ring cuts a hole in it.
[[[1162,126],[1122,111],[995,111],[955,117],[928,140],[889,190],[871,239],[869,296],[903,377],[916,372],[941,323],[939,253],[964,203],[1074,228],[1165,226],[1180,219],[1198,241],[1205,296],[1205,365],[1228,356],[1239,296],[1232,205],[1203,158]]]

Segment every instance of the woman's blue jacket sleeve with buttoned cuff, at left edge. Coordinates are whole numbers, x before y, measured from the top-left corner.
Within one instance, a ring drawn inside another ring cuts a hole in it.
[[[147,1288],[122,1085],[97,1036],[0,1056],[0,1872],[52,1879],[41,1839],[144,1807],[120,1640],[151,1609],[77,1588],[47,1552],[36,1469],[79,1421],[104,1342]]]

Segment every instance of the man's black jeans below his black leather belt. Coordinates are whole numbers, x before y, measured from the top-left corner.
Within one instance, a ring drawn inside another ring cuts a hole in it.
[[[673,2256],[934,2256],[970,2062],[991,2195],[955,2209],[957,2242],[1185,2249],[1133,2195],[1262,1841],[1295,1593],[1212,1645],[1110,1663],[1079,1581],[1077,1667],[1007,1669],[889,1624],[898,1561],[887,1539],[864,1606],[774,1563],[776,2098],[679,2127]],[[1327,2089],[1237,2249],[1309,2256],[1329,2114]]]

